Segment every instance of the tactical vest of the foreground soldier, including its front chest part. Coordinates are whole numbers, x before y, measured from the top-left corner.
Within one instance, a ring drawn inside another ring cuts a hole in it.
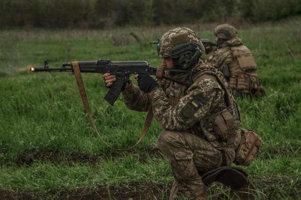
[[[188,131],[197,135],[211,144],[217,149],[223,147],[238,147],[240,141],[240,113],[236,102],[231,95],[231,89],[223,75],[214,67],[202,65],[194,69],[192,77],[193,83],[203,79],[212,79],[217,81],[223,89],[225,101],[213,110],[199,123],[195,124]],[[177,105],[179,100],[186,94],[187,87],[177,83],[167,84],[165,92],[171,100],[171,104]]]

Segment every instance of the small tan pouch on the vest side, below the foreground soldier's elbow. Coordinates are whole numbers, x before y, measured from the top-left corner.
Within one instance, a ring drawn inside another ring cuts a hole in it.
[[[235,130],[234,119],[227,109],[223,109],[221,113],[213,119],[213,130],[222,140],[233,136]]]

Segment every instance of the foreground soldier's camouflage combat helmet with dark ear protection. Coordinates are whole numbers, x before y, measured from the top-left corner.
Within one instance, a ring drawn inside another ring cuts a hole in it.
[[[199,61],[205,48],[194,31],[178,27],[162,35],[157,50],[159,57],[172,58],[175,68],[189,69]]]

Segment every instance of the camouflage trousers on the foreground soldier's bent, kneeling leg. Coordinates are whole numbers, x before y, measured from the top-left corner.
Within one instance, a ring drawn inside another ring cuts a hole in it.
[[[221,166],[222,155],[219,150],[198,136],[175,131],[163,131],[157,145],[166,156],[175,179],[169,200],[173,200],[176,193],[195,199],[206,192],[201,174]],[[227,165],[230,164],[227,162]]]

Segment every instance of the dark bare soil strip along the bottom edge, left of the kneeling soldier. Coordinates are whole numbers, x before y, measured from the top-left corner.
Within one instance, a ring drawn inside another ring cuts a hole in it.
[[[128,185],[99,186],[95,190],[78,188],[61,192],[41,192],[0,190],[1,200],[153,200],[168,199],[172,182],[167,184],[153,184],[149,182],[134,182]],[[164,197],[164,198],[162,198]]]

